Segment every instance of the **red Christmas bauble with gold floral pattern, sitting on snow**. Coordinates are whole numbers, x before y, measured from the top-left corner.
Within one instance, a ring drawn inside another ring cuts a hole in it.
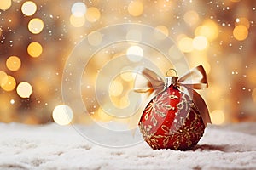
[[[171,85],[148,103],[139,128],[153,149],[189,150],[201,139],[205,125],[189,95]]]

